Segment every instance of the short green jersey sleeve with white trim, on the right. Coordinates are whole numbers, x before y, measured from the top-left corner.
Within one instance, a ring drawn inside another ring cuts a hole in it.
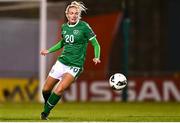
[[[91,40],[96,36],[88,23],[85,23],[85,36],[87,37],[88,40]]]

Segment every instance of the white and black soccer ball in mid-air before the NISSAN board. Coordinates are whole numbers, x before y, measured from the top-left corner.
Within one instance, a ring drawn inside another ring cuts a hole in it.
[[[126,77],[121,73],[115,73],[109,78],[109,84],[114,90],[121,90],[127,85]]]

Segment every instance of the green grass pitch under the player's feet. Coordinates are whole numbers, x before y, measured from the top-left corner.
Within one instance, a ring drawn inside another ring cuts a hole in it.
[[[2,122],[39,122],[43,104],[0,103]],[[180,122],[180,103],[155,102],[60,102],[48,122]]]

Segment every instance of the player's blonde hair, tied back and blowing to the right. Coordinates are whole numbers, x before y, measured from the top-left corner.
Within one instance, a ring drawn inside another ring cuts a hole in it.
[[[72,8],[72,7],[75,7],[75,8],[77,8],[77,9],[79,10],[79,17],[78,17],[78,19],[81,19],[81,13],[82,13],[82,11],[86,12],[86,10],[87,10],[87,8],[84,6],[84,3],[83,3],[83,2],[73,1],[73,2],[71,2],[71,4],[69,4],[69,5],[66,7],[66,11],[65,11],[66,17],[67,17],[69,8]]]

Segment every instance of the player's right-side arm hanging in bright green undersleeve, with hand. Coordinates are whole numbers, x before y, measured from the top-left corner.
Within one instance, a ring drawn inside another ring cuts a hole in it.
[[[93,38],[90,39],[90,42],[92,44],[92,46],[94,47],[94,59],[93,62],[95,63],[95,65],[97,63],[100,63],[100,53],[101,53],[101,47],[96,39],[96,37],[94,36]]]

